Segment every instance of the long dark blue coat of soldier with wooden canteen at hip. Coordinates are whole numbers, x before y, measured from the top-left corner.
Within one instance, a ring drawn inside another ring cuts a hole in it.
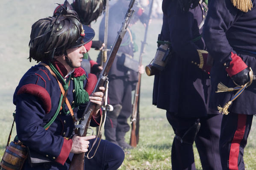
[[[208,111],[210,79],[191,61],[198,62],[197,49],[205,50],[198,26],[205,17],[202,4],[188,12],[176,0],[163,0],[163,25],[160,40],[171,42],[172,55],[165,69],[155,75],[153,104],[180,117],[202,117]],[[217,113],[217,112],[213,112]]]

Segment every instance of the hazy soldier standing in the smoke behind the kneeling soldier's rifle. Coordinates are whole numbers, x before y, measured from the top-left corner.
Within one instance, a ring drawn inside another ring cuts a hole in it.
[[[108,24],[108,48],[110,49],[115,42],[115,37],[121,21],[123,20],[126,6],[129,5],[128,0],[118,0],[109,9],[109,24]],[[142,8],[135,8],[135,14],[132,17],[131,23],[135,23],[138,19],[145,23],[145,14]],[[105,17],[100,23],[100,40],[104,39]],[[132,114],[132,90],[135,88],[135,83],[138,81],[137,72],[141,74],[144,71],[143,66],[138,69],[138,62],[133,60],[133,53],[136,51],[136,45],[133,42],[134,34],[127,28],[127,34],[124,36],[117,57],[109,71],[109,103],[113,105],[114,110],[109,112],[106,117],[104,135],[106,140],[118,144],[124,149],[132,148],[125,142],[125,134],[129,131],[127,119]],[[99,55],[101,57],[101,54]],[[98,57],[97,62],[100,62]],[[124,62],[125,61],[125,62]],[[124,63],[128,64],[125,65]]]

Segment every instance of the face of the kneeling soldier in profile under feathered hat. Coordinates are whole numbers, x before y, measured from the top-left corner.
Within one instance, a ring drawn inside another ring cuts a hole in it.
[[[83,54],[86,53],[86,49],[83,45],[75,48],[69,48],[66,50],[68,57],[65,57],[65,62],[71,68],[78,68],[81,66]]]

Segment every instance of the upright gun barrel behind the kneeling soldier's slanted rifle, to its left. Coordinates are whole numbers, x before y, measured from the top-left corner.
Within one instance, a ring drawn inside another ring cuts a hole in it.
[[[106,11],[105,11],[105,30],[104,30],[104,44],[105,46],[103,47],[101,51],[101,61],[100,65],[103,66],[103,64],[106,62],[107,59],[107,51],[108,49],[108,28],[109,28],[109,0],[106,0]]]

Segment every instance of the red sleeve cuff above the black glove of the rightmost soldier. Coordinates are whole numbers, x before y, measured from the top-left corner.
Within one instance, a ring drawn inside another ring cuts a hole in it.
[[[230,77],[235,74],[238,74],[240,71],[244,70],[248,66],[244,63],[244,61],[237,54],[231,52],[232,61],[230,62],[230,66],[226,68],[227,73]]]

